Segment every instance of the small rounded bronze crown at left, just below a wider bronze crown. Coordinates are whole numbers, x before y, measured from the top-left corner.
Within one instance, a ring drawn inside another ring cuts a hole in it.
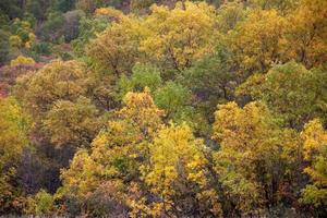
[[[57,100],[43,120],[44,130],[57,147],[88,147],[100,129],[99,111],[85,97],[75,102]]]

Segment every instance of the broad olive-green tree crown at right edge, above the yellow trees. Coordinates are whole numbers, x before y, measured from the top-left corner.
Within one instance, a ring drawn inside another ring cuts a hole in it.
[[[325,119],[325,77],[323,66],[308,71],[292,61],[275,65],[267,74],[253,75],[238,92],[266,101],[289,126],[301,129],[315,117]]]

